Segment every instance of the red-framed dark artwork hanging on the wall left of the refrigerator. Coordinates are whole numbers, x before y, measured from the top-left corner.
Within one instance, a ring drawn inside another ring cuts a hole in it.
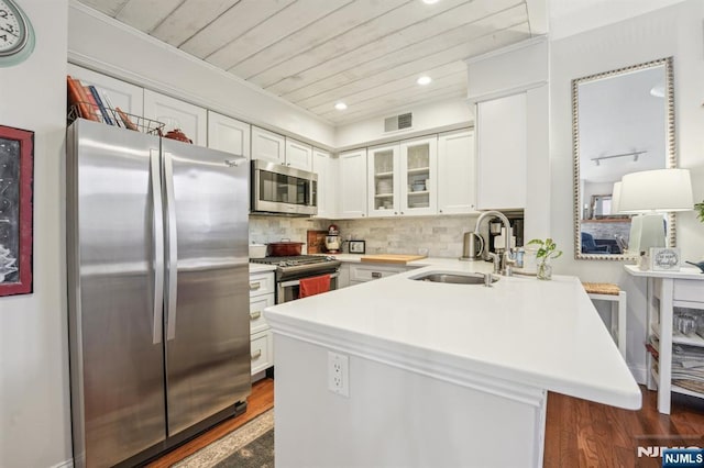
[[[34,132],[0,125],[0,296],[32,292]]]

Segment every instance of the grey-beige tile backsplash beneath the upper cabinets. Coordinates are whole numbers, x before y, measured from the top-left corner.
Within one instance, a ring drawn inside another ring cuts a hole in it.
[[[250,242],[267,243],[287,238],[306,242],[308,230],[327,231],[337,224],[343,241],[365,241],[367,254],[417,254],[427,248],[430,257],[462,256],[465,232],[473,231],[477,215],[367,218],[362,220],[314,220],[250,215]],[[348,252],[346,243],[343,252]]]

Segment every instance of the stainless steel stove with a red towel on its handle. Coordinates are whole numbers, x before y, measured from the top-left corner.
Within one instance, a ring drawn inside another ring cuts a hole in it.
[[[299,280],[330,275],[330,289],[338,289],[340,260],[321,255],[250,258],[252,264],[276,266],[276,303],[298,299]]]

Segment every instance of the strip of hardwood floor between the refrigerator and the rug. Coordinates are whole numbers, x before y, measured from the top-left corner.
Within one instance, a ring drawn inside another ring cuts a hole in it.
[[[220,437],[228,435],[238,427],[252,421],[260,414],[274,408],[274,380],[262,379],[252,385],[252,394],[248,399],[248,408],[244,414],[223,421],[210,431],[180,445],[147,465],[148,468],[167,468],[189,455],[195,454]]]

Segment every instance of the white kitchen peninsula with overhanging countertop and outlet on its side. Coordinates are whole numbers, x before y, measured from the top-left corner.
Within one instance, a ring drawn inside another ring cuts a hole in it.
[[[414,278],[488,264],[420,265],[265,310],[277,464],[538,467],[548,390],[640,408],[578,278],[501,277],[487,288]]]

